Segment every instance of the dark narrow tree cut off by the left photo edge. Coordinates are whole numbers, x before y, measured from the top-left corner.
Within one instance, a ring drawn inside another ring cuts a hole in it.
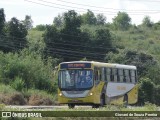
[[[3,8],[0,9],[0,34],[2,34],[3,28],[5,26],[5,14]]]

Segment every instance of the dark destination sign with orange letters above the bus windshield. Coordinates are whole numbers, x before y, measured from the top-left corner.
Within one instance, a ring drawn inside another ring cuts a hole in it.
[[[63,63],[60,68],[91,68],[91,63]]]

